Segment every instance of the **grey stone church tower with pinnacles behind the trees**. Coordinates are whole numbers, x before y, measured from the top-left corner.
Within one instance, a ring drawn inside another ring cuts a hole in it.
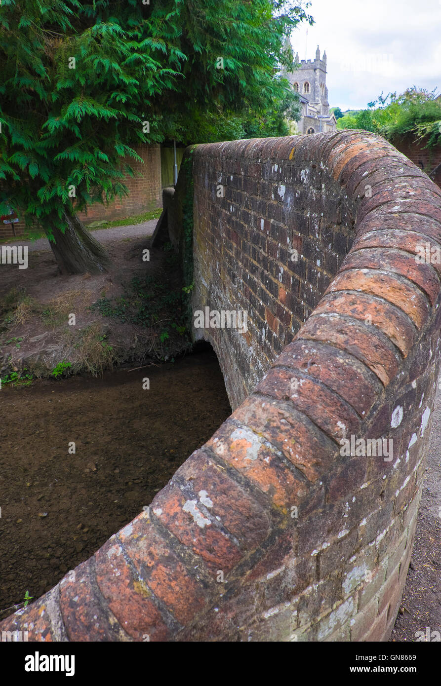
[[[285,50],[293,48],[288,38],[284,44]],[[323,59],[320,59],[320,50],[317,45],[315,60],[299,60],[299,54],[295,56],[299,69],[288,73],[282,72],[288,79],[293,90],[300,96],[300,111],[302,118],[297,123],[299,133],[319,133],[321,131],[334,131],[337,121],[333,114],[329,113],[328,87],[326,86],[326,51]]]

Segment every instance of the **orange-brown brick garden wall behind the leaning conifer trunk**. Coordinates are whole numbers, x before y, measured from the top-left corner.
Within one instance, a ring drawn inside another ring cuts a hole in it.
[[[135,177],[127,176],[124,181],[128,188],[128,196],[122,200],[114,200],[108,206],[100,203],[89,206],[87,212],[80,212],[78,215],[84,224],[100,220],[110,222],[161,207],[161,147],[142,144],[137,147],[136,152],[143,162],[138,162],[133,158],[127,160],[135,171]],[[139,176],[139,173],[142,176]],[[21,218],[20,211],[18,216]],[[23,218],[14,226],[17,235],[23,234],[25,228]],[[13,235],[10,225],[0,224],[0,239]]]

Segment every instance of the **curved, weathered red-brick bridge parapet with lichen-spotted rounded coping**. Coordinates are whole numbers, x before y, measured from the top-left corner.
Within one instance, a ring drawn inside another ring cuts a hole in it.
[[[366,132],[200,145],[192,159],[193,308],[248,312],[247,331],[202,332],[234,412],[150,510],[0,629],[385,641],[440,365],[441,266],[415,257],[441,245],[441,192]],[[387,459],[342,454],[352,438],[359,452],[380,440]]]

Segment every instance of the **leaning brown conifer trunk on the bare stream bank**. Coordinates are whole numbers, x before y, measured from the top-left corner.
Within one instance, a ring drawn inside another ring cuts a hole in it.
[[[49,244],[62,274],[100,274],[111,264],[109,255],[74,214],[64,213],[65,233],[52,227]]]

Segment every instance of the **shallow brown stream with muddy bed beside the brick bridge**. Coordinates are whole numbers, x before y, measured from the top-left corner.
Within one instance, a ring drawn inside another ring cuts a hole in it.
[[[213,351],[102,379],[3,386],[0,619],[139,514],[230,413]]]

